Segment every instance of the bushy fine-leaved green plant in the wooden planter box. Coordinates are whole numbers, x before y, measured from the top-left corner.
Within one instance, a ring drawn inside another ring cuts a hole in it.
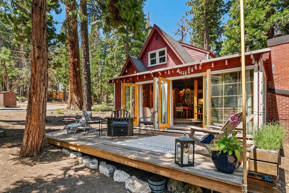
[[[278,121],[261,125],[255,128],[252,140],[258,149],[281,149],[286,139],[286,129]]]

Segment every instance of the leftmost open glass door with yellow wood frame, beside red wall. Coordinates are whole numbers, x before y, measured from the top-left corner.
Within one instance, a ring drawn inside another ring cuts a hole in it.
[[[134,126],[138,125],[138,85],[131,83],[121,84],[121,106],[130,113],[131,117],[136,117]]]

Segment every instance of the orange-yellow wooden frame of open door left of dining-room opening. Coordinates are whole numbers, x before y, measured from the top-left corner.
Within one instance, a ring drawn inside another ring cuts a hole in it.
[[[163,77],[158,77],[159,79],[159,101],[158,103],[160,104],[161,103],[161,81],[166,81],[168,83],[168,96],[167,96],[167,100],[168,100],[168,123],[166,124],[161,124],[161,113],[160,113],[160,105],[158,106],[159,108],[159,129],[167,129],[170,127],[170,121],[171,121],[171,108],[170,108],[170,105],[171,105],[171,101],[170,101],[170,89],[171,89],[171,81],[169,79],[166,79],[166,78],[163,78]]]

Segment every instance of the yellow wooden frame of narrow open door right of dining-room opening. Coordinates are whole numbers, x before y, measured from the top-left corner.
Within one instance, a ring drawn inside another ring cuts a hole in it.
[[[210,108],[210,97],[211,97],[211,69],[208,69],[204,75],[203,75],[203,98],[204,98],[204,91],[205,91],[205,76],[207,76],[207,100],[203,100],[203,128],[205,129],[208,129],[207,126],[205,126],[205,111],[204,111],[204,106],[205,106],[205,103],[207,103],[208,101],[208,104],[207,104],[207,107],[206,107],[206,110],[207,110],[207,122],[206,122],[206,125],[210,125],[210,116],[211,116],[211,108]]]

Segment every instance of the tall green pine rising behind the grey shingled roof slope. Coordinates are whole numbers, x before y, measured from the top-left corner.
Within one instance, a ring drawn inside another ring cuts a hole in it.
[[[192,15],[188,22],[192,29],[190,44],[207,50],[214,48],[215,54],[218,55],[222,43],[222,19],[230,4],[230,1],[225,3],[223,0],[189,0],[186,5],[191,9],[186,11],[186,14]]]

